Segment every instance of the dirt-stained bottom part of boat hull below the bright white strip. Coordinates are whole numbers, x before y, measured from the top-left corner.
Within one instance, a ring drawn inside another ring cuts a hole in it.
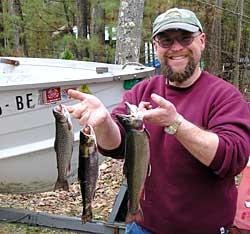
[[[78,141],[74,142],[72,157],[73,170],[69,173],[69,183],[77,179]],[[57,179],[57,165],[53,147],[33,152],[21,153],[1,160],[1,193],[35,193],[52,191]]]

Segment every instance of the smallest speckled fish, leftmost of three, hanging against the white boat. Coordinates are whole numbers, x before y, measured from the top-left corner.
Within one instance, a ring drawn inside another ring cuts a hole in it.
[[[53,108],[53,115],[56,124],[54,149],[56,152],[58,171],[54,191],[61,188],[65,191],[69,191],[67,175],[71,169],[71,159],[73,154],[73,124],[66,106],[62,104]]]

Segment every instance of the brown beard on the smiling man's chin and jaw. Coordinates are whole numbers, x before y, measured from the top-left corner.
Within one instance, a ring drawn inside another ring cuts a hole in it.
[[[188,64],[186,65],[184,71],[175,72],[173,69],[165,62],[161,62],[161,74],[164,75],[169,81],[183,83],[188,80],[195,71],[196,63],[192,56],[189,56]]]

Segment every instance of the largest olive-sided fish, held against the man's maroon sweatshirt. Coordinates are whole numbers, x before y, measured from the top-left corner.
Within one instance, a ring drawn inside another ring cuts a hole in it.
[[[127,179],[128,207],[125,222],[131,223],[143,220],[140,199],[145,197],[144,184],[150,169],[150,147],[143,115],[137,106],[128,102],[125,105],[129,114],[116,114],[116,118],[126,132],[124,174]]]

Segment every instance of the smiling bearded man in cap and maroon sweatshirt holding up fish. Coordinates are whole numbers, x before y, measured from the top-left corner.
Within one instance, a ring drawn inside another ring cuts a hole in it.
[[[96,97],[74,90],[69,95],[80,102],[68,109],[80,124],[94,127],[101,153],[114,158],[124,156],[126,144],[116,114],[127,114],[125,102],[142,112],[150,175],[141,212],[134,222],[130,217],[126,233],[229,233],[234,177],[250,155],[249,107],[234,86],[201,70],[205,33],[192,11],[172,8],[159,15],[152,40],[161,75],[127,91],[112,114]]]

